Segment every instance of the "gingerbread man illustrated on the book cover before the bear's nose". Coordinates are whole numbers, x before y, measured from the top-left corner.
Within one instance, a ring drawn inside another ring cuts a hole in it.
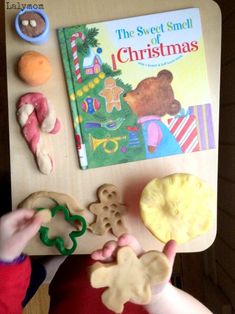
[[[120,111],[122,109],[120,95],[124,90],[117,86],[115,79],[112,77],[105,79],[104,86],[104,89],[99,93],[99,95],[105,98],[106,111],[110,113],[114,108]]]

